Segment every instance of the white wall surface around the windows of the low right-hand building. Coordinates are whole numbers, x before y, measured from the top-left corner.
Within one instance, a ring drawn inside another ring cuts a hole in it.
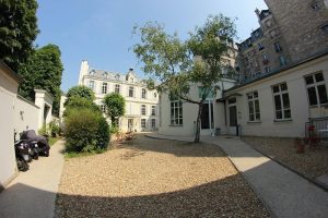
[[[233,92],[242,96],[237,97],[237,111],[239,113],[238,124],[242,125],[242,135],[257,136],[304,136],[305,122],[309,118],[309,107],[304,75],[323,71],[326,89],[328,89],[328,56],[304,63],[277,75],[263,78]],[[290,121],[274,121],[274,102],[272,96],[272,85],[286,83],[291,105]],[[246,94],[258,90],[260,122],[248,121],[248,106]],[[227,107],[227,106],[226,106]],[[226,114],[229,119],[229,113]]]

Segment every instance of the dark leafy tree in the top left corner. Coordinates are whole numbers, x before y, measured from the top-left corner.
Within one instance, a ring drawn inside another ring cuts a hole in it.
[[[0,60],[15,72],[33,53],[37,7],[36,0],[0,0]]]

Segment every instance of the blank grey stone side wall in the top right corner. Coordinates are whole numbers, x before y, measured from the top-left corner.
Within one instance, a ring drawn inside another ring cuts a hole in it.
[[[324,0],[265,1],[288,45],[292,62],[328,49],[328,9]]]

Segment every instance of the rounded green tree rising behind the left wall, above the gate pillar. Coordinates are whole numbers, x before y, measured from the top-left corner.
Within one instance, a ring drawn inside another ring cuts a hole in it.
[[[58,46],[47,45],[38,48],[21,64],[19,74],[23,77],[20,85],[20,95],[34,100],[35,88],[47,90],[54,97],[52,113],[59,114],[60,84],[62,76],[61,52]]]

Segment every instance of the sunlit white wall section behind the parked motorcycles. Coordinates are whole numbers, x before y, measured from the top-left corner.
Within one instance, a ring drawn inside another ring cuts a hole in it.
[[[14,129],[17,133],[25,130],[38,131],[39,108],[33,102],[17,96],[14,109]],[[19,138],[19,134],[16,136]]]

